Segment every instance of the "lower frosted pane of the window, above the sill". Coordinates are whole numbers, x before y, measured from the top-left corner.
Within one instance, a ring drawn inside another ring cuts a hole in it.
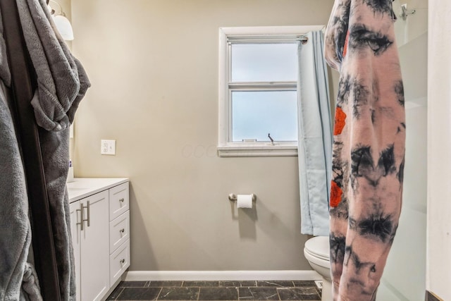
[[[297,141],[297,92],[232,92],[232,140]]]

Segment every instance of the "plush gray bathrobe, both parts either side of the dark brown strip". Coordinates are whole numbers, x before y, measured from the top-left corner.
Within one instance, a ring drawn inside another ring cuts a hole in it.
[[[37,73],[38,87],[31,104],[39,125],[61,300],[75,300],[66,190],[69,125],[90,83],[80,62],[54,29],[45,1],[17,0],[17,5],[27,50]],[[32,239],[27,192],[5,88],[11,84],[11,75],[1,22],[0,30],[0,300],[41,300],[34,269],[27,262]]]

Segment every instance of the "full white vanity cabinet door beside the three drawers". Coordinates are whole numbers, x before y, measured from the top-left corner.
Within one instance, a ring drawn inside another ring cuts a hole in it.
[[[100,300],[110,288],[109,192],[80,199],[80,203],[87,220],[81,231],[82,300]]]

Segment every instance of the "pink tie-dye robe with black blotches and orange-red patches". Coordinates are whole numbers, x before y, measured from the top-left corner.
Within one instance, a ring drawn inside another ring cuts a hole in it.
[[[335,0],[325,56],[340,71],[330,189],[333,300],[376,299],[402,203],[406,125],[392,0]]]

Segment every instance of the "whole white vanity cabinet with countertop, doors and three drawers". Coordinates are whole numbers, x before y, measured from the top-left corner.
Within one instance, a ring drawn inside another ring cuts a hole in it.
[[[77,300],[104,300],[130,266],[128,179],[68,183]]]

